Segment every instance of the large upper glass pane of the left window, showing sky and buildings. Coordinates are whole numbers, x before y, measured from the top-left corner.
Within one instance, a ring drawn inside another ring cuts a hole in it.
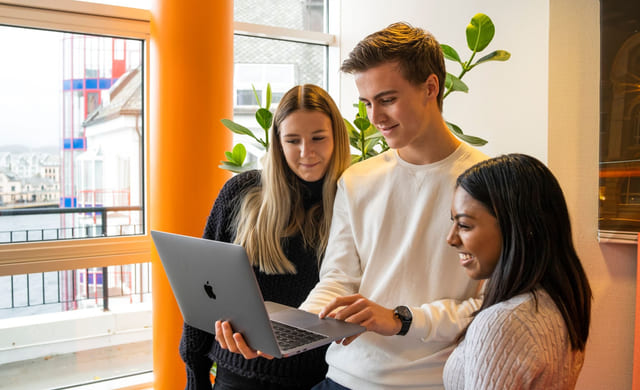
[[[142,42],[0,26],[0,50],[0,244],[143,234]]]

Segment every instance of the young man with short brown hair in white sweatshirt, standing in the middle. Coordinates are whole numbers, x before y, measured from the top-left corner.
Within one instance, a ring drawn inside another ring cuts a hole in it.
[[[467,259],[445,241],[453,188],[486,156],[442,118],[446,71],[431,34],[392,24],[358,43],[342,71],[391,150],[338,183],[320,282],[301,307],[368,332],[329,347],[314,389],[441,388],[452,341],[480,307]]]

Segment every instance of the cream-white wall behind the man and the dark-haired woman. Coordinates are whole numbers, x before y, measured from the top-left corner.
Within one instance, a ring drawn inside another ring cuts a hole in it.
[[[345,0],[340,12],[342,58],[365,35],[407,21],[431,31],[466,59],[466,25],[478,12],[491,17],[496,36],[487,51],[504,49],[512,57],[467,74],[463,80],[469,94],[450,95],[444,115],[465,132],[488,139],[481,148],[488,155],[531,154],[557,175],[594,290],[591,334],[577,388],[630,388],[636,246],[599,244],[596,235],[599,1]],[[458,73],[455,64],[447,61],[447,67]],[[340,91],[340,108],[351,118],[357,101],[352,76],[342,76]]]

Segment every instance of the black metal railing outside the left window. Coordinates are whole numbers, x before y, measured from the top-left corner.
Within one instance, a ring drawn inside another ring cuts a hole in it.
[[[141,207],[78,207],[2,209],[3,216],[82,214],[85,226],[24,228],[0,231],[0,243],[66,240],[143,234],[141,224],[108,223],[109,213],[141,212]],[[120,216],[122,217],[122,216]],[[62,217],[61,217],[62,218]],[[99,219],[99,221],[98,221]],[[112,218],[112,221],[117,218]],[[0,318],[101,306],[110,298],[144,301],[151,293],[151,263],[0,277]]]

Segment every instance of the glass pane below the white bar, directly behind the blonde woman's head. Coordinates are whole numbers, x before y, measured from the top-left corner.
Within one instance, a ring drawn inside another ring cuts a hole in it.
[[[327,47],[268,38],[234,36],[234,115],[233,120],[264,138],[255,118],[255,88],[265,106],[267,84],[271,85],[271,111],[282,95],[298,84],[326,88]],[[248,161],[256,161],[263,151],[248,136],[234,135],[234,142],[247,147]]]

